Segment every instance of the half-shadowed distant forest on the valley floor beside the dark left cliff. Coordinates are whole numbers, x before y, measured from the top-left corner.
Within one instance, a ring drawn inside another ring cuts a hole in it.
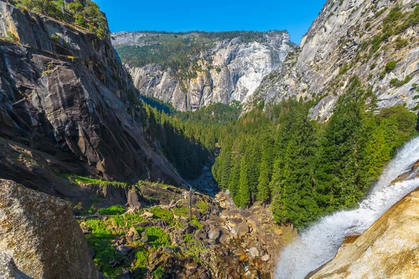
[[[237,121],[241,108],[216,103],[196,112],[177,112],[159,100],[142,100],[145,133],[159,140],[163,153],[185,179],[196,179],[218,155],[221,130]]]

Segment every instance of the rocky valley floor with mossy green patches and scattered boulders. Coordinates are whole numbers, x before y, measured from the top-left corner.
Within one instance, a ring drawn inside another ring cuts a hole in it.
[[[124,213],[79,217],[99,271],[110,278],[272,278],[296,232],[276,225],[270,206],[237,209],[228,192],[195,192],[191,201],[189,219],[188,191],[141,183],[120,206]]]

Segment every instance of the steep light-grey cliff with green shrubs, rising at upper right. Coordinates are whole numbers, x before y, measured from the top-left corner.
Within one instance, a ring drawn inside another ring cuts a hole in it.
[[[261,83],[253,98],[277,103],[296,96],[321,97],[312,116],[330,116],[353,75],[370,86],[379,107],[416,106],[418,1],[328,0],[288,55],[283,68]],[[393,66],[387,66],[394,61]]]

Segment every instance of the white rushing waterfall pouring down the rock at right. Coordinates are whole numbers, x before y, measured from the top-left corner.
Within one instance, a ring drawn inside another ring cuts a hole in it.
[[[284,248],[279,256],[275,278],[302,279],[335,257],[345,236],[361,234],[385,211],[419,187],[419,179],[395,183],[400,174],[419,159],[419,137],[399,150],[397,156],[385,167],[371,193],[352,211],[339,211],[321,218],[302,232],[300,237]]]

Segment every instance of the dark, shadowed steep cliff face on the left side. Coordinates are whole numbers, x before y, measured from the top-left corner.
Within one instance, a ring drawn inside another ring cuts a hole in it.
[[[63,173],[179,185],[109,38],[0,1],[0,69],[3,178],[54,195]]]

